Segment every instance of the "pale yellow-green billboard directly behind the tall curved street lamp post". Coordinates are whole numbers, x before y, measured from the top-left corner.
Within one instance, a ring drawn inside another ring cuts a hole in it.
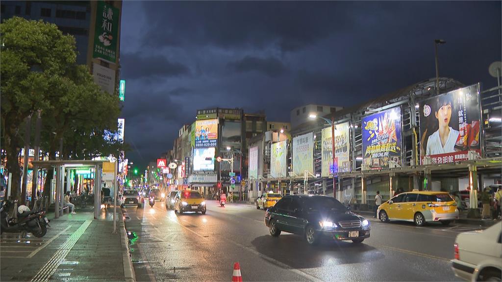
[[[333,166],[333,148],[331,126],[322,129],[321,176],[350,171],[350,134],[348,122],[335,125],[335,165]]]

